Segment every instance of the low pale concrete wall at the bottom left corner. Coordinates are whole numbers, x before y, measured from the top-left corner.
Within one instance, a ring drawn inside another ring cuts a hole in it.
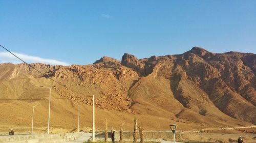
[[[8,143],[60,143],[80,137],[83,133],[30,134],[0,136],[0,142]]]

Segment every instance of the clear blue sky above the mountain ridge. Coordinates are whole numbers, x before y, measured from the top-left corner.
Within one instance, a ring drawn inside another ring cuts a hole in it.
[[[87,65],[104,55],[141,59],[194,46],[256,53],[254,0],[0,0],[0,7],[0,44],[28,62]],[[0,63],[13,62],[4,52]]]

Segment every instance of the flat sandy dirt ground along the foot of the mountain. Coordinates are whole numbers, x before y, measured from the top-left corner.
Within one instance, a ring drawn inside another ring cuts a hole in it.
[[[90,131],[90,127],[81,127],[84,131]],[[7,135],[10,127],[1,127],[0,134]],[[51,133],[76,132],[77,129],[50,128]],[[96,130],[99,131],[99,130]],[[15,134],[30,134],[31,127],[16,127]],[[33,129],[35,134],[47,133],[46,127],[36,127]],[[118,131],[117,131],[118,132]],[[229,129],[211,129],[195,131],[176,131],[176,141],[181,142],[237,142],[239,136],[242,136],[244,142],[256,142],[256,127],[251,128],[229,128]],[[133,131],[124,131],[124,139],[132,139]],[[139,133],[138,133],[139,138]],[[172,131],[144,131],[144,139],[163,139],[173,141]]]

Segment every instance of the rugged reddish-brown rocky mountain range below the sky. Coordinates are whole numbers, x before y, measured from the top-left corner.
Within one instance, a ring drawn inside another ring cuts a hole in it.
[[[45,108],[41,110],[47,113],[47,101],[38,99],[42,94],[47,96],[47,90],[39,85],[48,85],[55,97],[67,99],[53,101],[58,106],[53,110],[58,114],[53,119],[55,127],[63,124],[59,118],[76,115],[75,109],[69,107],[71,103],[90,110],[92,95],[96,96],[96,108],[101,112],[97,116],[102,120],[112,119],[113,126],[118,126],[115,120],[129,122],[134,117],[148,129],[166,129],[168,123],[179,124],[184,130],[256,124],[253,53],[211,53],[194,47],[183,54],[145,59],[124,53],[121,62],[104,56],[92,65],[31,66],[44,75],[25,64],[0,65],[0,98],[27,99],[1,100],[0,106],[8,104],[25,109],[40,102]],[[5,121],[11,117],[2,112],[6,116],[0,122],[8,125]],[[23,115],[24,120],[29,117]],[[99,127],[103,126],[100,121]],[[66,122],[66,126],[73,124],[72,118]],[[90,122],[84,120],[84,126]],[[38,121],[38,126],[41,124]],[[127,128],[132,128],[132,121]]]

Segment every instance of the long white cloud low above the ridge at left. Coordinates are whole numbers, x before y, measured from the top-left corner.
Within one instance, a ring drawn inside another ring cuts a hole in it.
[[[40,58],[38,56],[26,55],[23,53],[15,53],[15,52],[12,52],[12,53],[27,63],[44,63],[44,64],[49,64],[49,65],[62,65],[62,66],[70,65],[68,63],[53,60],[53,59],[44,59],[44,58]],[[20,64],[23,62],[18,60],[14,55],[12,55],[9,52],[0,52],[0,63]]]

